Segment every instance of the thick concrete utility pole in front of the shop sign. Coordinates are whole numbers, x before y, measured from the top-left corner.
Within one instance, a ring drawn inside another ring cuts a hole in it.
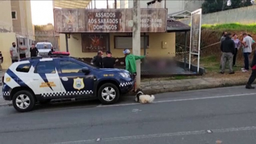
[[[140,0],[133,0],[132,54],[140,56]],[[136,89],[140,88],[140,60],[136,61]]]

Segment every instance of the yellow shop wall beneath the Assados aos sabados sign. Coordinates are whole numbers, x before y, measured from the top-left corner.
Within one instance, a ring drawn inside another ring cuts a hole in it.
[[[113,57],[124,56],[123,49],[114,48],[114,36],[126,35],[125,33],[110,33],[110,51]],[[150,57],[163,57],[175,56],[175,33],[149,33],[149,48],[146,52]],[[167,43],[166,48],[162,48],[162,42]],[[82,38],[81,34],[71,34],[68,39],[68,49],[70,56],[73,57],[93,57],[95,53],[83,53],[82,52]],[[66,51],[65,34],[60,34],[60,51]],[[132,50],[131,50],[132,52]],[[143,55],[143,48],[141,49],[141,55]]]

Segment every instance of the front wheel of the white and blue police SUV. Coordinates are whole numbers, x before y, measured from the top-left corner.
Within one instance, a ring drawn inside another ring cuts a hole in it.
[[[113,97],[114,95],[115,97]],[[98,91],[98,97],[102,104],[116,103],[119,100],[119,95],[119,89],[112,83],[103,84]]]

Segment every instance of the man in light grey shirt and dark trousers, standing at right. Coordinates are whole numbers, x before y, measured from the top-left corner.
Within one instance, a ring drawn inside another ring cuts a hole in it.
[[[252,37],[248,36],[246,33],[243,34],[243,41],[241,42],[244,46],[243,53],[244,53],[244,68],[242,68],[242,72],[249,72],[249,55],[252,53],[252,44],[253,39]]]

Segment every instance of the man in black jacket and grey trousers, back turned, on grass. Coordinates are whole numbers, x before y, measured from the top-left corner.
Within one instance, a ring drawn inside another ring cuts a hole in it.
[[[230,69],[230,74],[234,74],[234,71],[232,69],[233,64],[233,56],[235,54],[235,43],[233,40],[231,40],[231,34],[228,33],[226,35],[226,39],[222,41],[221,43],[221,73],[224,73],[225,69],[225,63],[228,61],[228,67]]]

